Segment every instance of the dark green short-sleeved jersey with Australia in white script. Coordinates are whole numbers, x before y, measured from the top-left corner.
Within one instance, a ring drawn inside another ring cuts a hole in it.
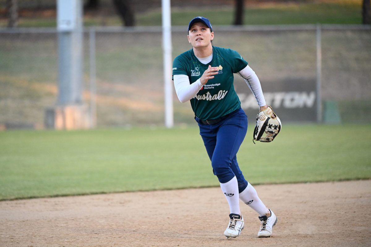
[[[202,120],[217,119],[240,108],[241,102],[234,91],[233,73],[243,70],[247,62],[237,51],[213,46],[213,59],[210,63],[203,64],[191,49],[174,59],[173,76],[187,75],[192,84],[209,65],[218,67],[218,74],[207,81],[190,100],[195,116]]]

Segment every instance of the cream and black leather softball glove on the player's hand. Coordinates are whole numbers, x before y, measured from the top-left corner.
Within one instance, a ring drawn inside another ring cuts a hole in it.
[[[273,112],[272,107],[268,106],[256,116],[253,141],[271,142],[278,135],[280,130],[281,120],[276,113]]]

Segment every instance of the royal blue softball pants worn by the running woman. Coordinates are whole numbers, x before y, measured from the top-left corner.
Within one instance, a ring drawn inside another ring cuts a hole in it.
[[[236,155],[247,131],[245,112],[240,108],[213,125],[202,124],[200,119],[195,119],[200,127],[200,135],[211,160],[214,175],[220,183],[227,183],[236,176],[241,193],[247,187],[247,181],[238,166]]]

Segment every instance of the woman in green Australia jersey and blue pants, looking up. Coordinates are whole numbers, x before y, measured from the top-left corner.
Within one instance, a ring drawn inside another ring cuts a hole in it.
[[[240,199],[259,214],[258,237],[270,237],[277,218],[247,183],[236,158],[246,135],[247,117],[234,91],[233,73],[244,78],[262,111],[267,106],[260,81],[236,51],[212,45],[214,32],[205,17],[190,21],[187,37],[193,49],[174,59],[174,86],[181,102],[191,101],[213,173],[228,201],[229,224],[224,235],[237,237],[244,227]]]

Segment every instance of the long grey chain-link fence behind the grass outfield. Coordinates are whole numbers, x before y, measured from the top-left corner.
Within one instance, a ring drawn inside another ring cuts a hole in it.
[[[237,50],[256,71],[264,92],[316,83],[316,26],[216,26],[214,31],[214,46]],[[324,115],[335,111],[343,123],[369,121],[371,28],[324,25],[321,34]],[[161,27],[95,30],[98,127],[164,124],[161,35]],[[0,32],[1,126],[44,127],[45,109],[58,96],[57,36],[55,29]],[[186,27],[174,27],[172,40],[173,57],[191,49]],[[83,42],[83,99],[89,104],[88,30]],[[235,78],[236,88],[247,87]],[[175,92],[174,123],[194,123],[190,104],[180,103]]]

